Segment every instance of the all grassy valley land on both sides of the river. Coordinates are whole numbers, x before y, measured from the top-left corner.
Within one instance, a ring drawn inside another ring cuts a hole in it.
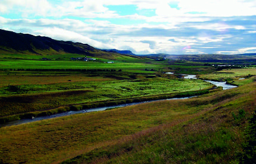
[[[213,87],[180,74],[239,87],[1,127],[0,163],[255,163],[255,68],[218,71],[199,62],[120,54],[70,60],[77,56],[3,56],[0,121],[205,94]]]

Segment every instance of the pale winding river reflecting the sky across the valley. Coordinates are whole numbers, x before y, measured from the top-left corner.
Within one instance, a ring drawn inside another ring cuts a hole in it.
[[[184,76],[185,79],[196,79],[196,75],[183,75],[183,76]],[[214,82],[214,81],[206,81],[206,82],[213,83],[216,86],[222,86],[223,89],[231,89],[231,88],[237,87],[237,86],[234,86],[234,85],[226,84],[226,82]],[[170,99],[187,99],[187,98],[191,98],[191,97],[170,98]],[[170,99],[167,99],[167,100],[170,100]],[[161,101],[161,100],[163,100],[163,99],[158,99],[158,100],[153,100],[153,101]],[[36,117],[36,118],[33,118],[33,119],[23,119],[23,120],[11,121],[11,122],[6,123],[6,124],[1,124],[0,127],[26,124],[26,123],[31,123],[31,122],[34,122],[34,121],[46,120],[46,119],[56,118],[56,117],[63,117],[63,116],[71,115],[71,114],[79,114],[79,113],[93,112],[93,111],[104,111],[104,110],[107,110],[107,109],[110,109],[110,108],[126,107],[126,106],[130,106],[130,105],[142,104],[142,103],[145,103],[145,102],[153,102],[153,101],[133,102],[133,103],[129,103],[129,104],[121,104],[121,105],[115,105],[115,106],[110,106],[110,107],[91,108],[91,109],[88,109],[88,110],[81,110],[81,111],[68,111],[68,112],[58,113],[58,114],[54,114],[54,115]]]

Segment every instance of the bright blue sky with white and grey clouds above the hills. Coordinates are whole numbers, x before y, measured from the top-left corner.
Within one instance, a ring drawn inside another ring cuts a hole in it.
[[[135,54],[256,53],[256,0],[0,0],[0,28]]]

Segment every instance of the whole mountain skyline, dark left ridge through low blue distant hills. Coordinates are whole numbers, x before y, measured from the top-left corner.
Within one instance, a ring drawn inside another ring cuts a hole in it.
[[[145,54],[136,55],[130,50],[96,49],[89,44],[73,41],[54,40],[49,37],[33,36],[31,34],[14,33],[0,29],[0,54],[82,54],[85,56],[114,59],[116,56],[149,57],[158,59],[166,57],[174,60],[189,60],[202,62],[220,62],[221,60],[256,59],[256,53],[250,54]]]

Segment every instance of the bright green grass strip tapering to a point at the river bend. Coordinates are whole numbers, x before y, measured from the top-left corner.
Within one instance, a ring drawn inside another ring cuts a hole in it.
[[[123,97],[137,97],[148,94],[166,94],[179,93],[186,91],[196,91],[210,88],[211,83],[200,79],[135,79],[120,81],[87,81],[87,82],[66,82],[42,85],[18,85],[20,92],[14,92],[8,89],[8,86],[2,87],[0,95],[11,94],[33,94],[39,92],[71,91],[74,89],[93,89],[104,94],[120,95]],[[10,87],[9,87],[10,88]]]

